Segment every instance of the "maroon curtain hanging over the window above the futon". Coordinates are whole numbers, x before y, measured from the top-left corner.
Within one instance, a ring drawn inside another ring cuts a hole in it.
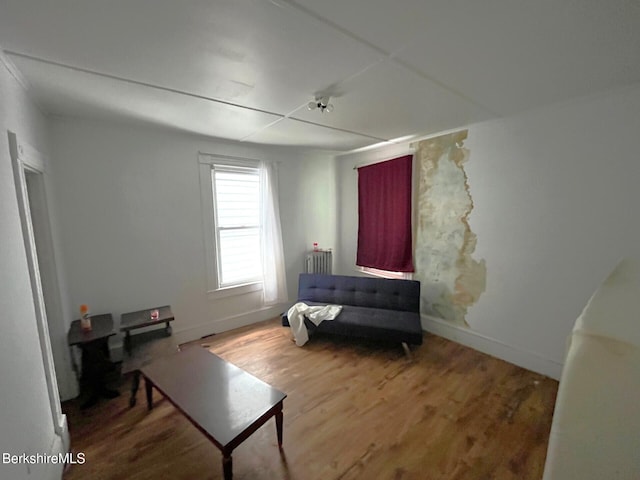
[[[411,155],[358,169],[356,264],[413,272]]]

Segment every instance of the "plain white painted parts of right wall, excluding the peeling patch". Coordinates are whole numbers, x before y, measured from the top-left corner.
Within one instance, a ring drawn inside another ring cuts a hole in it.
[[[427,329],[559,378],[586,301],[640,245],[638,112],[640,85],[465,127],[473,257],[486,261],[487,289],[468,329],[425,319]],[[355,255],[352,167],[393,154],[338,157],[342,272]]]

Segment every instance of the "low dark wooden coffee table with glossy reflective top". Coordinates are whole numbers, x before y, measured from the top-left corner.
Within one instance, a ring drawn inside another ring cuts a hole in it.
[[[155,387],[222,452],[225,480],[232,477],[231,452],[271,417],[282,448],[280,390],[210,353],[188,347],[141,369],[147,406]]]

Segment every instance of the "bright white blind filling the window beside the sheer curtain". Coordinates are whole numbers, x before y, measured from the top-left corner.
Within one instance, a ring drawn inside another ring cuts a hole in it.
[[[214,165],[212,176],[220,286],[256,281],[262,273],[258,169]]]

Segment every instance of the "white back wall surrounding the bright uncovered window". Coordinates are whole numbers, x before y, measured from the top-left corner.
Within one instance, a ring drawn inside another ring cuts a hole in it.
[[[272,318],[259,293],[208,298],[198,152],[278,161],[289,295],[312,239],[335,241],[334,160],[139,125],[52,122],[63,261],[72,312],[171,304],[178,341]],[[321,172],[321,173],[320,173]],[[317,201],[326,192],[329,200]],[[69,321],[72,318],[69,318]],[[114,345],[118,341],[115,340]]]

